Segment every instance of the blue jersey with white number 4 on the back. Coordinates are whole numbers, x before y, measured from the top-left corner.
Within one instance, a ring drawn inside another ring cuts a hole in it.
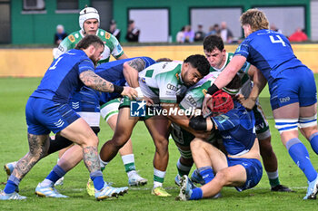
[[[263,72],[268,82],[283,70],[305,66],[293,54],[291,43],[283,34],[266,29],[248,35],[234,55],[244,56]]]

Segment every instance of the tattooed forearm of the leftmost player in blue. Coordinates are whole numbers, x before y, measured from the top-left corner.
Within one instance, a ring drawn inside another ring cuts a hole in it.
[[[96,91],[114,92],[114,84],[107,82],[92,71],[85,71],[80,74],[80,79],[85,86],[88,86]]]

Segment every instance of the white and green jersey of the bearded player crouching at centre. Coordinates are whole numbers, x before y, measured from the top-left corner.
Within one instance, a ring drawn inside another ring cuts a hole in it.
[[[155,103],[176,103],[176,91],[183,84],[183,62],[157,62],[139,72],[139,85],[145,97]]]

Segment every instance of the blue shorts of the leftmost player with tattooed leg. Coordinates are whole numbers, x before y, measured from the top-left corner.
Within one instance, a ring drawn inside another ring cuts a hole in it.
[[[34,135],[57,133],[80,118],[69,104],[30,97],[25,106],[27,132]]]

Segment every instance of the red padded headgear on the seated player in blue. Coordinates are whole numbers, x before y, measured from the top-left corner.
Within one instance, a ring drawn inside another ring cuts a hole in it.
[[[216,91],[212,95],[213,110],[212,112],[226,113],[233,110],[234,102],[232,97],[223,90]]]

